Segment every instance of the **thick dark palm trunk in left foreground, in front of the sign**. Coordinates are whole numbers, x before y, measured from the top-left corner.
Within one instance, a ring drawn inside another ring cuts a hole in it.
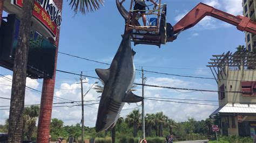
[[[8,142],[22,142],[23,109],[26,86],[26,65],[29,55],[29,37],[34,0],[23,1],[21,24],[17,40],[12,77]]]

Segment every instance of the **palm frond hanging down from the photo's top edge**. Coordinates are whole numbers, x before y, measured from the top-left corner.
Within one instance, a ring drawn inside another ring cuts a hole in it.
[[[69,0],[67,0],[69,1]],[[104,6],[104,1],[102,0],[70,0],[69,5],[71,9],[77,12],[81,12],[83,15],[86,13],[94,12],[99,10],[100,5]]]

